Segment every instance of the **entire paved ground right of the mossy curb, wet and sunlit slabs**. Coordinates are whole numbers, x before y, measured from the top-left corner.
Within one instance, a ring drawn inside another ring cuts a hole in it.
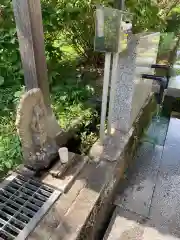
[[[180,239],[180,119],[158,124],[143,139],[104,240]]]

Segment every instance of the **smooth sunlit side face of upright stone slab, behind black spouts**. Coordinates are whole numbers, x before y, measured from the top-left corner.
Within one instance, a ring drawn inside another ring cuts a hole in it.
[[[156,63],[160,34],[141,36],[137,46],[134,89],[131,108],[131,125],[152,91],[152,80],[142,79],[142,74],[154,74],[151,68]]]

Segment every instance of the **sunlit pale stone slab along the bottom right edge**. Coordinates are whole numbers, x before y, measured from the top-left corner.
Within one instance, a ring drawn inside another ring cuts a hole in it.
[[[103,240],[178,240],[180,232],[154,224],[134,212],[116,207]]]

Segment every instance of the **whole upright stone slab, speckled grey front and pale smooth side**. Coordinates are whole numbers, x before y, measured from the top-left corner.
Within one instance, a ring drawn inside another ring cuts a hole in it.
[[[128,49],[120,53],[111,128],[128,132],[151,93],[152,81],[141,75],[153,73],[159,37],[159,33],[133,35]]]

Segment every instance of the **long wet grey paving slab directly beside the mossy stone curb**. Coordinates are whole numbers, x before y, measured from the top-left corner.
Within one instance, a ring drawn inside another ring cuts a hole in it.
[[[129,176],[128,187],[117,198],[117,205],[142,216],[149,216],[162,151],[162,146],[153,146],[151,143],[141,145],[134,171]]]

